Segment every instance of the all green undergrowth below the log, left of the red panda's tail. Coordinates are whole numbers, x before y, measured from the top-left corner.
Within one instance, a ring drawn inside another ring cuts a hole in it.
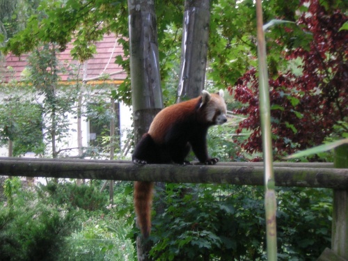
[[[116,185],[119,196],[107,207],[106,193],[93,185],[52,182],[28,189],[17,177],[4,184],[1,260],[134,260],[126,238],[134,218],[131,182]]]

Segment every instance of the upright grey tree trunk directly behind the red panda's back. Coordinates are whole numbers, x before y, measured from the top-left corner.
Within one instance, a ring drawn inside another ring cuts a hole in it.
[[[134,142],[138,143],[162,109],[157,22],[153,1],[128,0]],[[150,260],[149,242],[136,239],[138,260]]]

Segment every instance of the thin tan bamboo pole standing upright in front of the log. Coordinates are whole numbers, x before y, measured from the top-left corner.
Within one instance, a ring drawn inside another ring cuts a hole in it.
[[[262,19],[262,0],[256,1],[256,17],[258,32],[260,118],[264,157],[264,205],[266,210],[267,259],[273,261],[277,260],[276,192],[274,191],[275,181],[271,140],[271,112],[269,106],[266,43],[264,40]]]

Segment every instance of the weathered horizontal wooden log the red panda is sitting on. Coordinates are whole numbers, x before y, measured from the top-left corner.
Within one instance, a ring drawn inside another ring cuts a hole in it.
[[[288,163],[287,163],[288,164]],[[285,167],[283,167],[285,166]],[[328,168],[329,164],[275,164],[276,186],[347,189],[348,169]],[[171,183],[214,183],[263,185],[263,167],[254,163],[225,163],[215,166],[178,166],[131,161],[86,159],[28,159],[0,157],[0,175],[57,177],[94,180],[139,180]]]

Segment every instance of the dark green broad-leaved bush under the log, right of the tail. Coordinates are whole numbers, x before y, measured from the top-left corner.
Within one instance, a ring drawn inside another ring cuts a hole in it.
[[[159,201],[153,260],[265,259],[263,187],[167,184]],[[316,260],[330,246],[331,212],[328,189],[280,189],[280,260]]]

